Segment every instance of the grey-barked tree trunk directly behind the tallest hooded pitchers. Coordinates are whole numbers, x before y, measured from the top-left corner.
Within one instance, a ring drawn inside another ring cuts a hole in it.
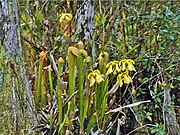
[[[84,0],[79,2],[76,19],[76,33],[79,35],[80,40],[86,44],[86,49],[88,52],[91,52],[94,61],[95,46],[94,43],[92,43],[94,37],[94,4],[92,0]]]

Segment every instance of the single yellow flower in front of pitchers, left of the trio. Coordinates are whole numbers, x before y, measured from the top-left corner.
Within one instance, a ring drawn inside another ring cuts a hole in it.
[[[88,79],[90,81],[90,87],[93,86],[95,82],[99,84],[100,82],[104,81],[99,70],[94,70],[93,72],[91,72],[88,75]]]

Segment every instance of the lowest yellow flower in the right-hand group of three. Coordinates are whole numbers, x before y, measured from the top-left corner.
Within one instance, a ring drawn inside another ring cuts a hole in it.
[[[123,85],[123,82],[125,84],[129,84],[132,82],[132,78],[128,75],[128,74],[125,74],[125,73],[121,73],[118,75],[117,77],[117,82],[118,84],[120,85],[120,87],[122,87]]]

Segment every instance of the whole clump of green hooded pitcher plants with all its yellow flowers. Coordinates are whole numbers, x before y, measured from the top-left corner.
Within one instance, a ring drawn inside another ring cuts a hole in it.
[[[60,15],[62,33],[71,21],[70,13]],[[39,57],[34,96],[36,108],[41,114],[41,124],[46,125],[50,134],[74,132],[75,124],[79,127],[79,134],[89,134],[92,129],[106,132],[110,115],[107,113],[108,98],[124,84],[133,86],[130,72],[136,71],[134,61],[122,59],[109,62],[109,54],[104,51],[96,59],[98,66],[94,68],[82,41],[69,46],[64,59],[60,57],[56,60],[48,51],[42,51]],[[47,61],[50,64],[45,66]],[[68,68],[65,68],[66,65]],[[116,81],[110,88],[109,82],[114,81],[111,79],[113,76]],[[45,111],[47,106],[52,107]]]

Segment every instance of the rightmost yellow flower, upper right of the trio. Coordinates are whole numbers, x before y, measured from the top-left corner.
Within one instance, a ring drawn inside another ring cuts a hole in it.
[[[126,69],[129,71],[136,71],[133,64],[134,61],[131,59],[123,59],[119,62],[119,66],[122,67],[122,71],[125,71]]]

